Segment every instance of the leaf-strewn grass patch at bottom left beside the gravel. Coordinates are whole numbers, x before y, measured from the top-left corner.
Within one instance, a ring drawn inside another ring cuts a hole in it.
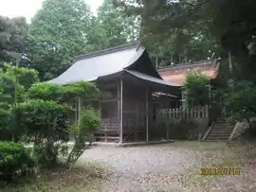
[[[57,166],[41,170],[36,179],[22,184],[9,184],[1,192],[93,192],[100,191],[101,182],[109,172],[102,164],[83,162],[67,168]]]

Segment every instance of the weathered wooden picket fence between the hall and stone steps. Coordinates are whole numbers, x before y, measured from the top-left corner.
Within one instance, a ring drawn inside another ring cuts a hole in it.
[[[201,119],[209,117],[209,106],[193,108],[161,109],[157,113],[157,120]]]

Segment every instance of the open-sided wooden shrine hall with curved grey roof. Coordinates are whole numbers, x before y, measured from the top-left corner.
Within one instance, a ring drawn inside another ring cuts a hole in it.
[[[91,104],[101,111],[101,129],[95,136],[104,142],[150,141],[155,108],[177,107],[181,96],[180,86],[162,79],[146,49],[137,44],[79,56],[49,82],[64,85],[81,80],[96,82],[101,91],[97,100],[80,98],[78,110]]]

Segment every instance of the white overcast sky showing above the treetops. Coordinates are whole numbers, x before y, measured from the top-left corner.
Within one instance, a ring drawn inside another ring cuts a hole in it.
[[[27,22],[41,8],[44,0],[0,0],[0,15],[8,17],[25,16]],[[85,0],[95,13],[103,0]]]

